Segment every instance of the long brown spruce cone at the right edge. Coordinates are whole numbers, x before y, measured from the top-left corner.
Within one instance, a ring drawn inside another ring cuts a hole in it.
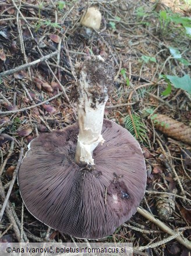
[[[191,144],[191,128],[189,126],[161,114],[155,114],[151,119],[153,119],[157,130],[160,130],[162,133],[175,140]]]

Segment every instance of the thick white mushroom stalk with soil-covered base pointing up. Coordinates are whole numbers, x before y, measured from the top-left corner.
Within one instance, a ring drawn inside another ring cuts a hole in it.
[[[93,165],[93,151],[99,143],[104,143],[101,130],[112,84],[112,64],[98,56],[95,60],[79,64],[79,71],[79,136],[75,161],[78,165]]]

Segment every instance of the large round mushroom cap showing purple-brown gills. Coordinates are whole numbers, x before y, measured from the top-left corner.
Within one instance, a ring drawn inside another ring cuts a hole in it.
[[[104,119],[105,143],[93,152],[95,168],[74,161],[78,124],[40,134],[19,169],[20,193],[29,212],[61,233],[101,238],[136,212],[146,187],[139,143]]]

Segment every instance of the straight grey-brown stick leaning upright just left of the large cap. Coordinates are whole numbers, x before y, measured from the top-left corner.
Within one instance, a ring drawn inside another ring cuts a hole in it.
[[[10,196],[10,193],[13,189],[13,185],[15,184],[15,180],[16,180],[16,177],[17,177],[17,172],[19,171],[19,167],[20,167],[20,164],[22,162],[22,157],[23,157],[23,150],[24,148],[21,148],[20,149],[20,155],[19,155],[19,160],[17,162],[17,166],[15,168],[15,171],[13,172],[13,178],[12,178],[12,181],[11,181],[11,184],[9,186],[9,190],[8,190],[8,193],[6,194],[6,198],[5,198],[5,201],[2,205],[2,208],[1,208],[1,212],[0,212],[0,222],[2,220],[2,216],[3,216],[3,213],[5,211],[5,207],[6,207],[6,204],[8,203],[8,200],[9,200],[9,196]]]

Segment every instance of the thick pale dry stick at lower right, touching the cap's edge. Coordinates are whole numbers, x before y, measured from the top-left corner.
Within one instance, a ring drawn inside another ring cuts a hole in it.
[[[162,231],[164,231],[165,233],[168,233],[171,236],[175,236],[177,234],[177,236],[174,237],[176,239],[176,241],[178,241],[180,244],[184,245],[186,248],[191,250],[191,243],[188,239],[181,236],[181,234],[176,233],[174,230],[170,229],[166,224],[164,224],[160,220],[155,219],[155,217],[153,215],[151,215],[151,213],[147,212],[147,210],[138,207],[137,213],[139,213],[140,215],[145,217],[147,220],[150,220],[150,222],[153,222],[155,225],[160,227],[160,229]]]

